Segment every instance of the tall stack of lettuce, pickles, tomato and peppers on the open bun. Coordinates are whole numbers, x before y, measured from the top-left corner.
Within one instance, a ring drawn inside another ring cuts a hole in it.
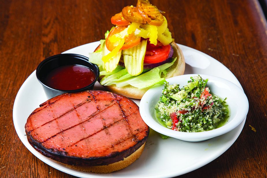
[[[116,26],[89,53],[89,61],[100,68],[101,85],[144,89],[166,82],[176,57],[163,13],[148,0],[138,0],[136,7],[126,6],[111,18]]]

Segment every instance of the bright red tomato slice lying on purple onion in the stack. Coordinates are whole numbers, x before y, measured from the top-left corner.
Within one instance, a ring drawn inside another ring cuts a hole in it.
[[[171,51],[170,45],[156,46],[154,48],[150,47],[148,47],[146,50],[144,63],[154,64],[162,62],[167,59]]]

